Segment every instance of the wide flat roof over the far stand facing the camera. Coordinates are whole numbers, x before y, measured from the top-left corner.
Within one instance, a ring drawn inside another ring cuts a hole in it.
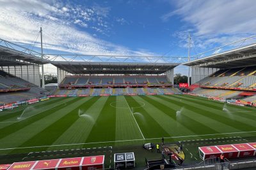
[[[52,61],[51,64],[72,74],[162,74],[179,65],[179,63],[67,61]]]

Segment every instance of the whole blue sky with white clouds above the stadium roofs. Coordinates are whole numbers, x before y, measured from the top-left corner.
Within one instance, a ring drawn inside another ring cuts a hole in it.
[[[26,47],[36,40],[39,50],[42,27],[45,53],[186,57],[188,32],[191,55],[254,35],[255,9],[254,0],[0,0],[0,38]]]

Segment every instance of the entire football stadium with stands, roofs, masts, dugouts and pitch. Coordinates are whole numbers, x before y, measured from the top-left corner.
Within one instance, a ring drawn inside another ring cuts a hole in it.
[[[0,38],[0,170],[256,169],[256,36],[167,57],[47,53],[43,31]]]

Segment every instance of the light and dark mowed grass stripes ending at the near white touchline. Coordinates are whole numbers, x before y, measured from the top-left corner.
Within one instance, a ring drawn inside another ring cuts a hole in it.
[[[18,121],[26,107],[33,107],[29,110],[32,117]],[[45,146],[42,150],[50,150],[51,145],[102,146],[109,141],[127,145],[121,141],[143,143],[143,137],[200,139],[205,134],[255,131],[255,118],[255,108],[194,96],[63,97],[0,113],[0,148]],[[8,120],[17,121],[5,124]],[[16,152],[20,151],[0,151]]]

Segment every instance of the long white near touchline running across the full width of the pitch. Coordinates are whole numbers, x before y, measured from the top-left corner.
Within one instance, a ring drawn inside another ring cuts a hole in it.
[[[198,136],[214,136],[214,135],[224,135],[224,134],[243,134],[243,133],[252,133],[252,132],[256,132],[256,131],[230,132],[230,133],[219,133],[219,134],[200,134],[200,135],[189,135],[189,136],[171,136],[171,137],[164,137],[164,138],[166,138],[166,139],[170,139],[170,138],[189,138],[189,137],[198,137]],[[102,142],[91,142],[91,143],[70,143],[70,144],[63,144],[63,145],[27,146],[27,147],[20,147],[20,148],[0,148],[0,150],[15,150],[15,149],[26,149],[26,148],[46,148],[46,147],[54,147],[54,146],[89,145],[89,144],[98,144],[98,143],[144,141],[144,140],[152,140],[152,139],[162,139],[162,138],[129,139],[129,140],[120,140],[120,141],[102,141]]]

